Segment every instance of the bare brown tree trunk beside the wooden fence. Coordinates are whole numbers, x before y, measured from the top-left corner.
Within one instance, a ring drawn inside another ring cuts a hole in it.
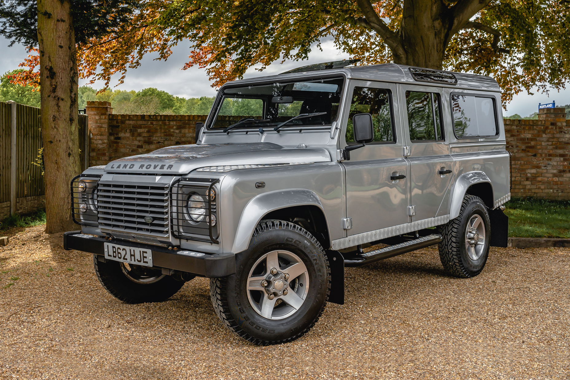
[[[46,233],[74,228],[70,181],[80,172],[78,70],[69,0],[38,0]]]

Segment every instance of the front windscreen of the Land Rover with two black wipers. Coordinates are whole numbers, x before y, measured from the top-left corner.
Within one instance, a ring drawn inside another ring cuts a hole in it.
[[[343,84],[343,78],[329,78],[226,88],[210,128],[227,128],[241,119],[253,120],[235,129],[274,127],[311,113],[321,115],[291,120],[282,128],[331,125],[337,117]]]

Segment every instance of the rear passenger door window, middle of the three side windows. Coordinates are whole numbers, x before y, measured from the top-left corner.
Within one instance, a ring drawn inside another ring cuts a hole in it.
[[[440,104],[437,93],[406,91],[410,140],[444,140]]]

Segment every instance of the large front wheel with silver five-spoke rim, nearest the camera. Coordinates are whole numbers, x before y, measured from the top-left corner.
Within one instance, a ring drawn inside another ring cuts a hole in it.
[[[236,273],[210,280],[216,314],[234,334],[258,345],[281,344],[319,320],[331,288],[323,247],[309,232],[283,220],[262,220]]]

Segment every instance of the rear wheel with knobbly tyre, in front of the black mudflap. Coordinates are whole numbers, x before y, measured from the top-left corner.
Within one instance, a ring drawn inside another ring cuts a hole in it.
[[[439,258],[446,271],[465,278],[481,273],[487,263],[491,238],[491,222],[482,199],[465,195],[459,216],[441,231]]]

